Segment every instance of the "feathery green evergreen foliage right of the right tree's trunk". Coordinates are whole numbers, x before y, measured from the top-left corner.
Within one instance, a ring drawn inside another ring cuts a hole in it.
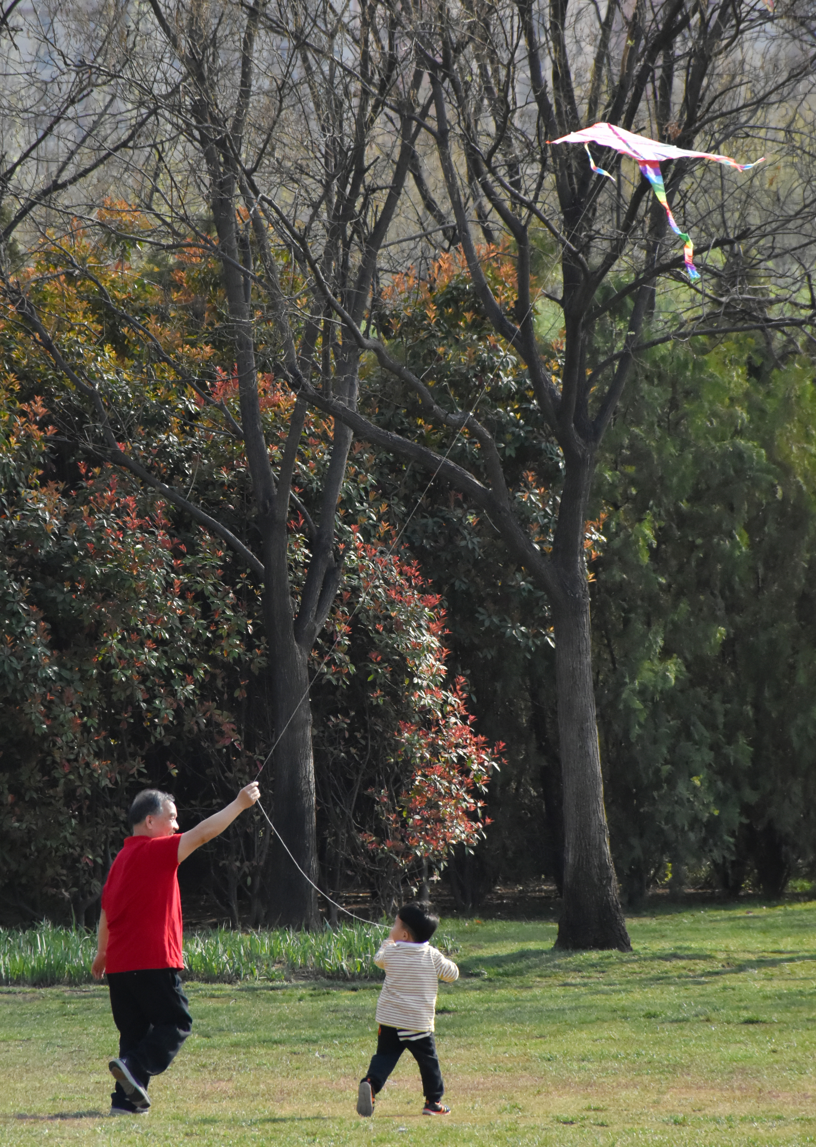
[[[762,359],[748,340],[653,352],[597,483],[599,723],[634,900],[667,861],[766,896],[813,863],[813,367]]]

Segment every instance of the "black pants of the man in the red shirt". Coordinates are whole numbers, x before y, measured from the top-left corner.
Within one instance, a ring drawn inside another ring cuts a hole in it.
[[[119,1056],[147,1087],[150,1076],[166,1071],[193,1028],[181,977],[174,968],[111,972],[108,985]],[[127,1106],[122,1084],[111,1099]]]

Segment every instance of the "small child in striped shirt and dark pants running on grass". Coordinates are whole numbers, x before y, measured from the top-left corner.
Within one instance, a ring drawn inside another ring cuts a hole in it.
[[[430,905],[403,905],[388,939],[374,957],[378,968],[386,969],[386,983],[376,1004],[376,1053],[357,1092],[358,1115],[374,1114],[374,1097],[406,1047],[422,1077],[422,1115],[450,1115],[450,1107],[440,1102],[445,1087],[434,1043],[434,1012],[437,981],[452,983],[459,978],[459,969],[428,943],[438,923]]]

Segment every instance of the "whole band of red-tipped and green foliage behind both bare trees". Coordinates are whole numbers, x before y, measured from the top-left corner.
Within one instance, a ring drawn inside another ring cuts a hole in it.
[[[124,208],[106,211],[116,219]],[[127,251],[80,232],[73,242],[91,282],[46,255],[39,264],[41,302],[63,342],[116,392],[132,448],[153,443],[154,468],[194,485],[204,507],[228,496],[230,529],[251,545],[242,451],[210,416],[212,401],[238,409],[212,267],[184,257],[134,267]],[[504,297],[512,259],[484,256]],[[111,319],[106,292],[205,382],[203,397]],[[461,262],[451,253],[425,281],[397,278],[378,321],[412,369],[433,374],[459,407],[479,406],[546,548],[560,455]],[[555,373],[561,345],[550,337]],[[77,397],[10,325],[2,340],[0,895],[9,918],[83,922],[138,786],[172,786],[195,817],[257,770],[271,735],[270,653],[252,576],[90,446],[72,448]],[[270,361],[273,349],[270,334]],[[376,369],[364,360],[364,374]],[[655,349],[637,372],[609,430],[585,540],[619,877],[630,903],[689,873],[731,894],[751,880],[778,896],[816,850],[813,365],[779,366],[743,337]],[[271,372],[262,390],[274,454],[294,399]],[[477,463],[468,437],[445,440],[403,396],[371,393],[382,424],[435,436],[454,460]],[[325,420],[308,419],[293,525],[313,510],[329,437]],[[533,481],[534,461],[546,485]],[[363,883],[390,904],[401,884],[437,868],[468,907],[498,879],[560,883],[542,593],[459,494],[362,443],[339,515],[344,584],[312,663],[325,887]],[[296,529],[290,554],[297,588],[308,543]],[[498,772],[502,746],[488,741],[506,742]],[[193,866],[191,887],[207,882],[234,924],[252,919],[266,846],[256,828],[235,827],[209,864]]]

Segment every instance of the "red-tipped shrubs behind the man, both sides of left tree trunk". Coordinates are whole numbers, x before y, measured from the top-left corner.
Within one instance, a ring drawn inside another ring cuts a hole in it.
[[[103,214],[133,225],[123,205]],[[116,396],[133,454],[149,453],[165,483],[195,487],[205,509],[226,500],[228,528],[251,546],[243,447],[220,420],[238,413],[239,396],[215,270],[186,257],[172,267],[133,265],[108,245],[108,236],[75,232],[79,275],[64,273],[64,250],[44,249],[33,296],[61,326],[77,369]],[[141,329],[111,305],[126,306]],[[275,653],[240,559],[154,491],[98,465],[92,440],[76,445],[80,399],[11,322],[0,340],[0,896],[16,918],[84,923],[138,787],[171,788],[185,828],[263,766],[274,738],[266,670]],[[271,354],[272,331],[270,343]],[[295,399],[272,373],[261,391],[279,463]],[[309,561],[297,522],[317,516],[331,442],[331,423],[308,415],[289,535],[296,592]],[[362,882],[390,906],[429,860],[441,866],[453,844],[481,838],[497,756],[472,728],[464,682],[449,679],[440,596],[388,514],[364,454],[339,506],[345,584],[311,668],[321,879],[335,891]],[[269,803],[274,814],[273,796]],[[207,883],[210,906],[234,926],[241,913],[261,918],[269,843],[247,819],[213,846],[209,866],[187,866],[188,882]]]

